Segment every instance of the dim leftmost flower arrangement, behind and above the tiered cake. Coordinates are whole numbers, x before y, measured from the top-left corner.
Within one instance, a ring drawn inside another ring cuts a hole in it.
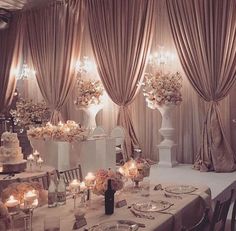
[[[33,102],[30,99],[20,98],[16,103],[16,109],[10,110],[14,122],[23,128],[29,128],[37,124],[46,124],[50,118],[50,110],[45,101]]]

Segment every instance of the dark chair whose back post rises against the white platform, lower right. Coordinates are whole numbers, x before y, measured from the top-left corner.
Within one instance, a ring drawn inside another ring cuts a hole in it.
[[[229,207],[233,198],[234,190],[231,190],[230,197],[221,202],[221,201],[216,201],[216,205],[214,208],[214,212],[210,221],[210,228],[209,231],[224,231],[225,230],[225,223],[227,220],[227,215],[229,212]]]

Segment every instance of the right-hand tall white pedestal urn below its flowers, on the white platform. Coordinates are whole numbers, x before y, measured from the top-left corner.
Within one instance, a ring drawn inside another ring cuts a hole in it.
[[[159,162],[158,166],[174,167],[178,164],[176,161],[176,144],[174,142],[175,129],[172,125],[172,113],[175,105],[162,105],[158,110],[162,116],[161,128],[159,129],[163,140],[159,145]]]

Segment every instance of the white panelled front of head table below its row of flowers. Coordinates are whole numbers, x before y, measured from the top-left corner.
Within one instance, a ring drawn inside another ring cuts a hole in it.
[[[38,150],[45,164],[59,171],[82,166],[85,176],[89,171],[99,168],[115,169],[115,139],[103,137],[99,139],[88,139],[81,142],[62,142],[51,140],[30,139],[34,150]]]

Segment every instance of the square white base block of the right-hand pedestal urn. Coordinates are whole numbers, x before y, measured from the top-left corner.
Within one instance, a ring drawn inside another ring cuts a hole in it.
[[[158,166],[160,167],[169,167],[173,168],[178,165],[176,161],[176,144],[173,145],[157,145],[159,149],[159,162]]]

